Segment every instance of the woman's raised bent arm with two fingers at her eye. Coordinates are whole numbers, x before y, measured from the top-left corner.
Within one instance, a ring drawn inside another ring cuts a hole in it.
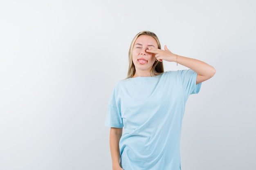
[[[195,73],[198,74],[196,78],[196,84],[210,79],[216,73],[216,70],[213,68],[213,66],[200,60],[173,54],[170,50],[167,49],[166,45],[164,46],[164,50],[151,48],[148,49],[147,52],[155,53],[156,59],[160,62],[163,60],[168,62],[177,62],[195,71]]]

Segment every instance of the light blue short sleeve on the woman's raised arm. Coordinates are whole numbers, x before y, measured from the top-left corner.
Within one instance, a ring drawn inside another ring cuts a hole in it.
[[[184,95],[189,97],[191,94],[197,94],[200,91],[202,83],[196,84],[197,73],[193,70],[182,70],[181,79]]]

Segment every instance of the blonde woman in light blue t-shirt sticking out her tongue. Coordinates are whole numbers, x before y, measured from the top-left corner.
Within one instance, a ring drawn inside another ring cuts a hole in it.
[[[164,72],[163,60],[190,69]],[[155,33],[138,33],[130,45],[128,77],[115,85],[108,104],[112,169],[180,170],[186,101],[215,72],[205,62],[162,50]]]

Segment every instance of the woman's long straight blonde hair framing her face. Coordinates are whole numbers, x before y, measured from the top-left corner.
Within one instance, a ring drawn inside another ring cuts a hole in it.
[[[137,35],[135,35],[135,37],[133,38],[132,43],[130,45],[130,49],[129,49],[129,54],[128,54],[129,68],[128,68],[128,73],[127,73],[127,77],[126,78],[130,78],[130,77],[135,75],[135,71],[136,70],[135,70],[135,66],[134,66],[134,64],[132,62],[132,49],[133,49],[133,46],[135,44],[135,41],[137,40],[137,38],[140,35],[149,35],[149,36],[155,38],[155,40],[157,41],[157,48],[161,49],[161,45],[160,45],[159,39],[157,38],[157,35],[155,35],[155,33],[150,32],[150,31],[141,31],[140,33],[137,33]],[[164,72],[163,62],[159,62],[157,60],[153,64],[153,67],[152,67],[152,69],[150,71],[150,76],[159,75],[159,74],[161,74],[163,72]]]

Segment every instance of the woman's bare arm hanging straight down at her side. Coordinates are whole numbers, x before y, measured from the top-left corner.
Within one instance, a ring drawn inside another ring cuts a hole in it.
[[[122,136],[123,128],[110,128],[110,153],[112,158],[112,169],[123,170],[120,167],[119,141]]]

